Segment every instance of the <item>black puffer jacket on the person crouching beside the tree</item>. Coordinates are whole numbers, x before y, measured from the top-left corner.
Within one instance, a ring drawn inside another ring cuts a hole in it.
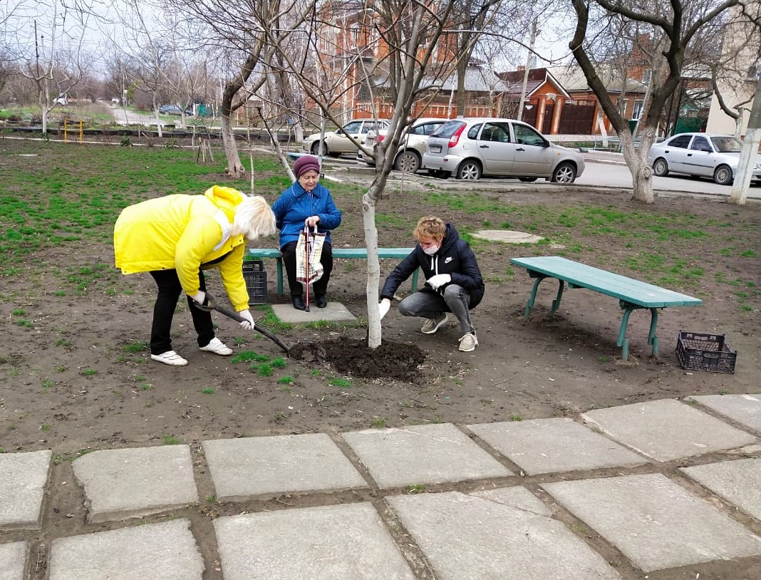
[[[476,254],[473,253],[466,241],[460,238],[457,229],[447,224],[447,231],[441,241],[441,247],[433,256],[428,256],[417,244],[404,260],[393,269],[380,291],[380,298],[393,299],[393,294],[402,282],[412,276],[416,269],[421,268],[425,279],[436,274],[449,274],[452,276],[451,284],[457,284],[470,292],[470,308],[476,308],[483,298],[484,285],[481,270],[476,262]],[[438,292],[444,292],[444,286]],[[420,292],[435,292],[426,284],[420,288]]]

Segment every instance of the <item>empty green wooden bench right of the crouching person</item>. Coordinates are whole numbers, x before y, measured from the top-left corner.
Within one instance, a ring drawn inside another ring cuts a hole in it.
[[[588,288],[600,294],[613,296],[619,299],[619,305],[623,310],[621,328],[619,330],[617,346],[621,347],[621,358],[629,359],[629,339],[626,338],[626,325],[629,323],[629,315],[632,311],[647,308],[651,313],[650,333],[648,344],[653,347],[653,356],[658,356],[658,337],[655,336],[655,327],[658,325],[658,309],[667,306],[699,306],[702,300],[686,294],[673,292],[667,288],[640,282],[626,276],[619,276],[607,270],[594,268],[566,260],[557,256],[545,256],[537,258],[513,258],[511,264],[527,269],[531,278],[536,278],[533,283],[531,296],[526,303],[526,318],[531,313],[533,303],[537,298],[539,283],[545,278],[555,278],[559,282],[558,295],[552,301],[549,314],[555,314],[560,308],[560,299],[563,296],[563,288]]]

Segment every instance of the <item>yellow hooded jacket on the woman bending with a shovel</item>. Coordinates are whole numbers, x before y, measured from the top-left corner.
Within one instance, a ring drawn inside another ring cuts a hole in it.
[[[219,268],[231,304],[236,311],[245,310],[246,240],[230,235],[234,208],[243,199],[238,190],[215,185],[202,196],[177,194],[126,207],[113,228],[116,267],[123,274],[177,269],[191,296],[200,289],[199,268]]]

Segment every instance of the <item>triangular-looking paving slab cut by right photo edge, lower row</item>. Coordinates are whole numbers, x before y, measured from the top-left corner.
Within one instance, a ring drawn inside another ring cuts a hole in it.
[[[680,470],[761,521],[761,459],[721,461]]]

